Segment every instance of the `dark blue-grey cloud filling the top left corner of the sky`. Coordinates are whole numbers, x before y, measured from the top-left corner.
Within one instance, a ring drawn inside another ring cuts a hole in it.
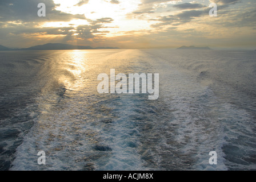
[[[45,3],[46,17],[38,17],[38,3]],[[86,19],[84,15],[73,15],[57,11],[53,0],[1,0],[0,21],[21,20],[23,22],[69,21],[74,18]]]

